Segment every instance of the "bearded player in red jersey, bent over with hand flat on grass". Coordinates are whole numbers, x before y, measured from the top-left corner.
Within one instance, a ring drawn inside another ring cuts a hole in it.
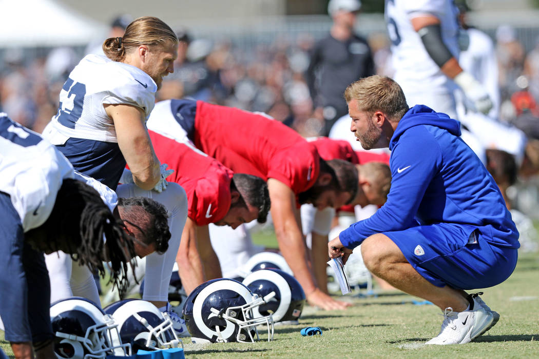
[[[349,305],[317,287],[298,208],[300,199],[340,207],[354,198],[357,185],[343,187],[331,163],[322,160],[312,144],[267,116],[193,100],[157,103],[148,128],[178,141],[190,140],[232,171],[266,180],[279,247],[307,300],[324,309]]]

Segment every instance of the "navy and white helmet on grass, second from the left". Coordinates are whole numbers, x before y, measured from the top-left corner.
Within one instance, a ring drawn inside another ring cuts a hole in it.
[[[183,343],[172,329],[172,321],[167,313],[162,313],[149,301],[124,299],[105,308],[118,323],[120,339],[130,343],[136,353],[142,350],[177,348]]]

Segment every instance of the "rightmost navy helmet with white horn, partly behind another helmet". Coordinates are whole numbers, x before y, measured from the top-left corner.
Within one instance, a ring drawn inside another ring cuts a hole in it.
[[[274,268],[260,269],[249,274],[243,284],[262,298],[275,292],[275,297],[253,308],[255,316],[272,314],[275,322],[298,321],[305,305],[305,293],[290,274]]]

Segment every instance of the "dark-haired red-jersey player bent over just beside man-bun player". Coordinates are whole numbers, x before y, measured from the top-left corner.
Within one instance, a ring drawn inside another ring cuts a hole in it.
[[[236,228],[253,220],[266,222],[270,204],[267,184],[260,177],[233,173],[189,142],[149,133],[157,157],[174,170],[167,180],[181,185],[187,193],[188,219],[176,261],[189,294],[206,279],[222,277],[208,225]],[[219,241],[226,242],[226,238]]]

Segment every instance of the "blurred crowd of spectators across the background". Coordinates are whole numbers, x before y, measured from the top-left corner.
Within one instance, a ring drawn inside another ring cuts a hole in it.
[[[327,1],[321,3],[319,8],[327,9]],[[379,10],[378,6],[378,11],[361,12],[356,17],[355,30],[368,41],[374,72],[391,76],[383,6]],[[473,6],[469,11],[469,23],[488,34],[495,46],[500,91],[497,121],[516,126],[534,143],[539,140],[539,24],[519,27],[499,21],[485,23],[478,21],[481,12],[474,11]],[[72,68],[86,53],[99,52],[105,38],[121,36],[123,28],[136,17],[120,12],[108,14],[109,23],[103,25],[107,33],[88,38],[86,44],[0,44],[0,110],[41,132],[56,114],[59,91]],[[168,23],[177,31],[181,43],[175,72],[165,78],[157,100],[189,96],[266,112],[306,137],[327,135],[323,116],[312,97],[313,89],[308,85],[314,45],[327,36],[332,24],[327,12],[269,17],[267,22],[254,25],[240,26],[235,21],[230,28],[220,30],[211,24],[205,27],[204,22],[197,27]],[[528,156],[535,167],[519,171],[512,185],[516,189],[509,189],[508,194],[515,208],[539,219],[539,158],[533,158],[534,153],[539,153],[539,147]]]

